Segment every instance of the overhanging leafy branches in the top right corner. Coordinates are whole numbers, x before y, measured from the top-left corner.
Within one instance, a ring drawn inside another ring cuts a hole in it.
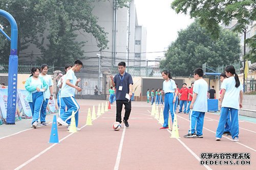
[[[220,36],[221,29],[219,23],[229,25],[232,19],[237,19],[237,25],[233,31],[244,32],[246,26],[256,20],[256,1],[255,0],[216,0],[216,1],[190,1],[175,0],[171,7],[177,13],[189,13],[191,18],[197,18],[200,25],[207,29],[214,38]],[[255,39],[256,35],[252,37]],[[255,43],[247,41],[252,48]],[[256,54],[256,51],[251,51]]]

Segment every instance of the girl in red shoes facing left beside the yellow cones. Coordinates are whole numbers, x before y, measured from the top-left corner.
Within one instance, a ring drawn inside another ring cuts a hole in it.
[[[163,90],[161,91],[164,93],[164,110],[163,110],[163,117],[164,117],[164,124],[163,127],[160,129],[168,129],[170,125],[168,125],[169,119],[169,110],[170,115],[172,115],[172,120],[174,122],[174,105],[177,98],[177,87],[175,81],[172,79],[170,72],[167,70],[163,70],[161,72],[163,79]]]

